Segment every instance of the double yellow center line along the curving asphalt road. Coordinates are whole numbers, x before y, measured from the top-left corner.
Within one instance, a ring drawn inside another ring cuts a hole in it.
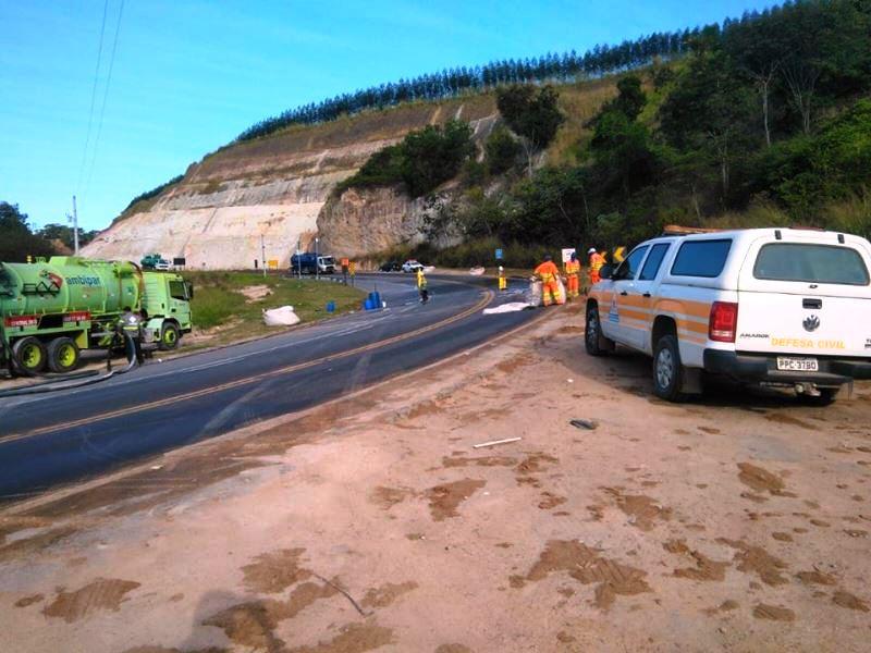
[[[454,282],[457,283],[457,282]],[[210,394],[214,394],[218,392],[223,392],[224,390],[231,390],[233,387],[240,387],[242,385],[248,385],[250,383],[257,383],[258,381],[262,381],[265,379],[271,379],[273,377],[279,377],[281,374],[286,374],[290,372],[296,372],[299,370],[304,370],[307,368],[316,367],[321,365],[322,362],[329,360],[335,360],[340,358],[347,358],[348,356],[354,356],[356,354],[363,354],[365,352],[371,352],[372,349],[378,349],[384,347],[387,345],[392,345],[394,343],[398,343],[402,341],[406,341],[408,338],[418,336],[424,333],[429,333],[430,331],[434,331],[436,329],[441,329],[442,326],[446,326],[447,324],[452,324],[458,320],[463,320],[469,317],[473,313],[482,310],[494,296],[493,291],[487,291],[483,297],[471,308],[464,310],[455,316],[446,318],[440,322],[436,322],[433,324],[428,324],[427,326],[421,326],[420,329],[416,329],[415,331],[409,331],[408,333],[401,333],[398,335],[394,335],[381,341],[377,341],[375,343],[369,343],[368,345],[361,345],[354,349],[347,349],[345,352],[339,352],[336,354],[330,354],[328,356],[322,356],[320,358],[316,358],[314,360],[308,360],[306,362],[297,362],[294,365],[290,365],[283,368],[279,368],[277,370],[271,370],[269,372],[261,372],[259,374],[255,374],[254,377],[246,377],[245,379],[237,379],[236,381],[228,381],[226,383],[222,383],[220,385],[212,385],[210,387],[205,387],[203,390],[197,390],[194,392],[188,392],[181,395],[175,395],[172,397],[167,397],[165,399],[158,399],[156,402],[148,402],[145,404],[138,404],[136,406],[128,406],[126,408],[119,408],[118,410],[110,410],[107,412],[101,412],[99,415],[94,415],[90,417],[85,417],[78,420],[73,420],[65,423],[56,423],[50,427],[42,427],[39,429],[34,429],[32,431],[25,431],[23,433],[13,433],[11,435],[4,435],[0,438],[0,444],[4,444],[7,442],[14,442],[16,440],[22,440],[24,438],[32,438],[35,435],[42,435],[45,433],[51,433],[52,431],[57,431],[58,429],[74,429],[76,427],[84,427],[87,424],[93,424],[95,422],[106,421],[108,419],[113,419],[115,417],[124,417],[127,415],[135,415],[137,412],[143,412],[145,410],[151,410],[152,408],[160,408],[162,406],[170,406],[172,404],[177,404],[179,402],[186,402],[188,399],[196,399],[198,397],[208,396]]]

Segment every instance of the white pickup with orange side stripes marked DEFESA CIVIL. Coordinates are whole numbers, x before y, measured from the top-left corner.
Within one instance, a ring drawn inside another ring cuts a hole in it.
[[[871,245],[796,229],[663,236],[640,244],[587,300],[587,352],[653,357],[658,396],[704,374],[792,389],[829,404],[871,379]]]

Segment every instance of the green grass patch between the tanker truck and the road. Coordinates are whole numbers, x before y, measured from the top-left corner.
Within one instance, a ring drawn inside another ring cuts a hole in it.
[[[335,313],[359,309],[365,293],[358,288],[304,279],[285,279],[277,274],[266,278],[256,272],[185,272],[194,284],[194,337],[192,346],[232,343],[237,340],[282,331],[263,324],[263,309],[293,306],[302,323],[327,317],[327,303],[335,301]],[[248,296],[246,296],[246,291]],[[209,331],[208,340],[203,338]]]

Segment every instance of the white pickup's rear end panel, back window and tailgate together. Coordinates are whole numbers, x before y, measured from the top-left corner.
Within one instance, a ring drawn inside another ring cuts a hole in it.
[[[738,280],[735,348],[871,357],[871,252],[856,241],[756,243]]]

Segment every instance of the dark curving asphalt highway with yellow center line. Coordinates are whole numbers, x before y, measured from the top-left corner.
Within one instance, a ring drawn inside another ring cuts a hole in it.
[[[0,501],[27,498],[341,397],[486,342],[536,315],[482,315],[488,305],[518,297],[494,297],[473,279],[430,278],[427,305],[418,303],[408,275],[358,279],[364,288],[377,284],[387,310],[155,360],[87,387],[0,399]]]

